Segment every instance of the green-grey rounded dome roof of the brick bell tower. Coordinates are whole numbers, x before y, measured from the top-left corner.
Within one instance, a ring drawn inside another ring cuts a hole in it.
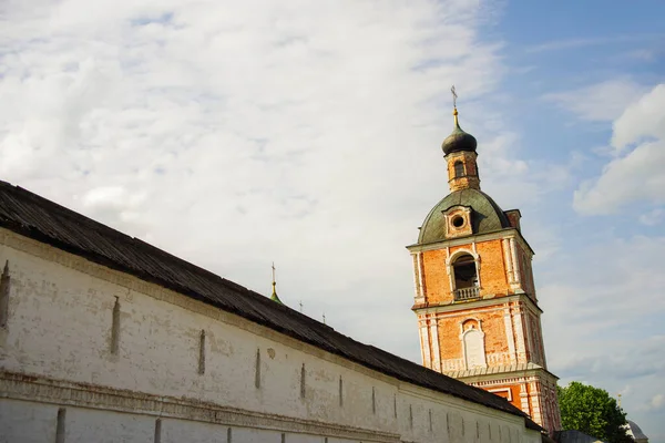
[[[491,233],[510,228],[510,222],[503,210],[485,193],[464,188],[448,194],[439,202],[422,222],[418,244],[442,241],[446,239],[443,213],[453,206],[469,206],[472,209],[471,225],[473,234]]]

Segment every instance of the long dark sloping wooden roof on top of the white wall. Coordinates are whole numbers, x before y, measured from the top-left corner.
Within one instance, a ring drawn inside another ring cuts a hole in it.
[[[0,227],[131,274],[396,379],[525,418],[502,398],[372,346],[27,189],[0,182]]]

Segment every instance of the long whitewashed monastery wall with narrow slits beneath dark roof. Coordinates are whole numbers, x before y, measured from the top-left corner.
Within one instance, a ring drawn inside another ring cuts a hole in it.
[[[541,440],[519,416],[0,228],[0,267],[6,260],[0,442]]]

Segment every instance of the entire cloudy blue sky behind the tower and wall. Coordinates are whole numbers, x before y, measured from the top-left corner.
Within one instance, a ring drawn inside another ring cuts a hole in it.
[[[665,3],[0,0],[0,179],[420,362],[405,246],[479,141],[549,369],[665,442]]]

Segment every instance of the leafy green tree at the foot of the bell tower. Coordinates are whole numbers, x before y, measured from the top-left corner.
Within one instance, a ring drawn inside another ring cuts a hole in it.
[[[608,443],[627,443],[626,414],[607,391],[580,382],[557,387],[561,425]]]

